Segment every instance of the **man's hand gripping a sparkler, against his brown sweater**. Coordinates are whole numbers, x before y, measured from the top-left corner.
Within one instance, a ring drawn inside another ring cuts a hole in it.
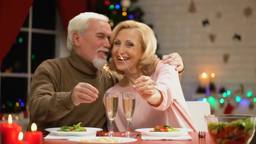
[[[71,101],[74,105],[91,103],[98,98],[98,90],[92,85],[80,82],[75,86],[71,94]]]

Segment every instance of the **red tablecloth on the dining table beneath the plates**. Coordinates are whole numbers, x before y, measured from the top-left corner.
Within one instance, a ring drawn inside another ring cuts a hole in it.
[[[124,132],[117,132],[118,135],[115,137],[123,137],[121,134]],[[134,132],[139,133],[139,132]],[[138,141],[131,142],[129,144],[214,144],[211,140],[209,133],[206,133],[205,138],[199,138],[197,132],[189,132],[190,136],[193,137],[191,140],[141,140],[141,134],[137,137]],[[43,144],[77,144],[69,140],[43,140]],[[96,143],[95,143],[96,144]]]

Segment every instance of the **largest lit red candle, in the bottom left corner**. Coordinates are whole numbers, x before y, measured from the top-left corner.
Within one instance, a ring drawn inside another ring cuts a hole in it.
[[[19,124],[13,123],[12,116],[9,115],[8,122],[0,125],[1,144],[13,144],[18,141],[18,137],[22,128]]]

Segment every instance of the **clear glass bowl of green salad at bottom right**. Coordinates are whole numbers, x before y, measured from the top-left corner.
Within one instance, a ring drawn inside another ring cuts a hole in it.
[[[255,133],[256,115],[205,115],[205,120],[216,144],[249,144]]]

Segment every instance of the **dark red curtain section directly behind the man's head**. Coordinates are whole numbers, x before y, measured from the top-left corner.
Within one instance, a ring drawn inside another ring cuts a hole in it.
[[[56,0],[56,2],[67,34],[69,20],[79,13],[95,12],[98,0]]]

